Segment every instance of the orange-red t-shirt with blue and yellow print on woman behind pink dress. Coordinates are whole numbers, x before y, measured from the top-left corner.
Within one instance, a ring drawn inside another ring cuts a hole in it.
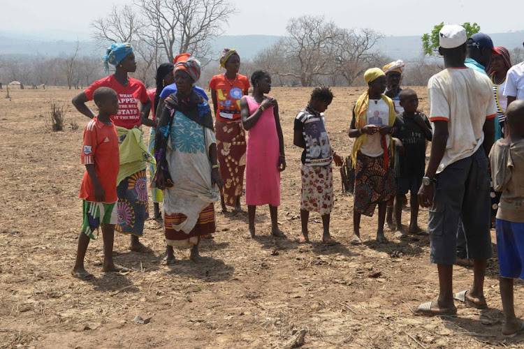
[[[224,74],[214,75],[209,87],[217,91],[217,105],[214,105],[217,119],[226,122],[240,121],[240,98],[251,87],[247,77],[237,74],[236,80],[228,80]]]

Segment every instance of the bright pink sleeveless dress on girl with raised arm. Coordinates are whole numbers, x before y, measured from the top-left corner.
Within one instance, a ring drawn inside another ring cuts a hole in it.
[[[259,103],[246,97],[249,114]],[[247,133],[246,205],[280,205],[279,141],[274,107],[264,110],[259,121]]]

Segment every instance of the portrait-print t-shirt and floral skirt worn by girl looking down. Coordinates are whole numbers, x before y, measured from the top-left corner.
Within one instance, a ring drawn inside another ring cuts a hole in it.
[[[333,154],[325,122],[322,113],[304,109],[297,114],[293,127],[302,132],[306,144],[300,159],[300,209],[322,216],[333,209]]]

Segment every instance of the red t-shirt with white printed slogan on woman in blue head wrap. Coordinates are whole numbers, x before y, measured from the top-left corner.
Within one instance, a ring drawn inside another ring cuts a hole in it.
[[[89,101],[93,100],[94,91],[99,87],[110,87],[117,92],[119,110],[118,114],[111,116],[115,126],[131,129],[142,124],[138,102],[147,103],[150,100],[143,82],[129,77],[129,84],[122,86],[115,79],[115,75],[109,75],[93,82],[91,86],[85,89],[85,96]]]

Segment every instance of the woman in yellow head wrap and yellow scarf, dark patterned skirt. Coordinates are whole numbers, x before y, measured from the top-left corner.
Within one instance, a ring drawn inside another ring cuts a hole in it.
[[[356,138],[351,158],[355,168],[352,244],[362,242],[359,226],[361,215],[372,216],[379,206],[377,241],[386,242],[384,221],[386,204],[396,193],[393,169],[393,124],[395,107],[391,98],[384,96],[386,74],[380,68],[364,73],[368,89],[358,98],[353,109],[349,137]]]

